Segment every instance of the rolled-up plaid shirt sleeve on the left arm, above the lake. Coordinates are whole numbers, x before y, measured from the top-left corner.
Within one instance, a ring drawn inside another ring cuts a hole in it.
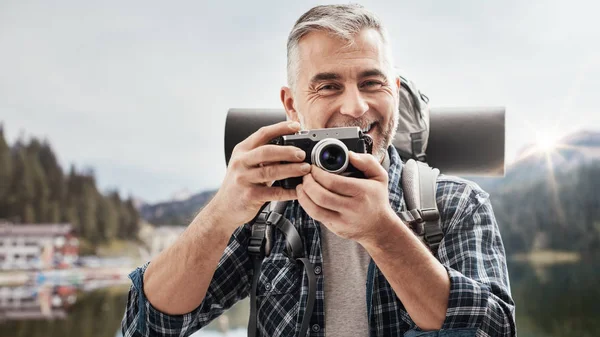
[[[202,303],[184,315],[168,315],[150,304],[144,295],[144,272],[151,263],[136,268],[129,278],[127,306],[121,321],[123,337],[189,336],[206,326],[250,293],[253,265],[246,252],[249,227],[239,227],[231,239]]]

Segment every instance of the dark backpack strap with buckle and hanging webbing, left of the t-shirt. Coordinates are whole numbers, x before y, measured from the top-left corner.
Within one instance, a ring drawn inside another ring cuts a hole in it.
[[[275,204],[273,209],[271,207]],[[252,275],[252,292],[250,293],[250,318],[248,321],[248,336],[256,337],[258,335],[258,313],[256,291],[260,278],[260,269],[265,257],[271,254],[273,248],[273,227],[283,232],[286,240],[285,254],[295,262],[300,262],[304,266],[308,276],[308,299],[306,310],[302,318],[300,337],[305,337],[310,324],[315,298],[317,294],[317,279],[313,272],[313,265],[308,258],[304,256],[302,238],[292,223],[286,219],[283,214],[288,202],[271,202],[263,205],[259,214],[251,222],[252,234],[248,243],[248,254],[254,264],[254,273]]]

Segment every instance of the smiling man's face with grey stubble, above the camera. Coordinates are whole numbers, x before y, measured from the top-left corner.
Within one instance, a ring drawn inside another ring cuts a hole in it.
[[[327,32],[311,32],[300,40],[298,70],[294,92],[281,92],[288,117],[304,129],[368,130],[381,160],[398,124],[399,82],[379,33],[365,29],[349,46]]]

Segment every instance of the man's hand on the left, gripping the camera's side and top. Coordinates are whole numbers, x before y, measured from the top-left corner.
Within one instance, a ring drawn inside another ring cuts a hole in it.
[[[260,128],[233,149],[225,179],[211,201],[220,217],[227,218],[231,232],[252,220],[268,201],[295,200],[295,189],[273,187],[276,180],[304,176],[310,165],[295,146],[267,144],[275,137],[300,130],[296,122],[281,122]],[[281,162],[287,162],[281,164]]]

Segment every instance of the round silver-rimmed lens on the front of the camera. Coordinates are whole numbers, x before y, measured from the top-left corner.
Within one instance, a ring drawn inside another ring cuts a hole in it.
[[[312,161],[325,171],[344,172],[348,167],[348,148],[338,139],[323,139],[313,148]]]

